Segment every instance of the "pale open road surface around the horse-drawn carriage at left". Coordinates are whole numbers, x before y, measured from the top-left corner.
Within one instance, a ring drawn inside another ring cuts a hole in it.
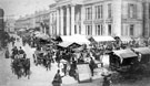
[[[21,41],[16,42],[17,47],[22,46]],[[11,52],[12,45],[9,44],[9,51]],[[12,74],[10,63],[11,60],[4,58],[3,53],[0,55],[0,86],[51,86],[51,82],[57,73],[57,64],[52,64],[51,71],[47,71],[43,66],[36,66],[33,64],[32,54],[34,49],[31,49],[29,45],[22,47],[27,53],[27,57],[31,60],[31,76],[30,79],[27,77],[17,78]],[[72,77],[64,77],[62,79],[66,84],[77,83]]]

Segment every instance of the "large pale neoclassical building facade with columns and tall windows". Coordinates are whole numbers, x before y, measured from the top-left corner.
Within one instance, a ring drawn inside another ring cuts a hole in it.
[[[56,0],[50,6],[54,13],[50,20],[56,19],[50,31],[57,35],[149,36],[148,4],[149,0]]]

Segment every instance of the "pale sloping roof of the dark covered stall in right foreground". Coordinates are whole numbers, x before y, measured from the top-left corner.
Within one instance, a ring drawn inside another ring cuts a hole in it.
[[[116,55],[118,55],[121,58],[128,58],[128,57],[136,57],[138,56],[133,51],[131,50],[119,50],[119,51],[113,51]]]

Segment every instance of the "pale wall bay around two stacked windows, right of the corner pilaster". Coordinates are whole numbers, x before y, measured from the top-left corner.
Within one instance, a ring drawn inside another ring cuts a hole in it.
[[[137,18],[129,18],[129,4],[136,4],[137,8]],[[121,7],[121,34],[124,36],[132,36],[130,35],[130,24],[134,25],[134,35],[133,37],[141,36],[143,33],[143,8],[142,8],[142,1],[139,0],[122,0],[122,7]]]

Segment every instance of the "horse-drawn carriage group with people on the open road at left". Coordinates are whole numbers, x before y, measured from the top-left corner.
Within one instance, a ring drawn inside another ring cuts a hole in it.
[[[12,73],[14,73],[18,78],[21,76],[28,76],[30,77],[30,58],[27,58],[27,54],[23,51],[22,46],[19,49],[16,46],[16,42],[19,42],[19,37],[10,36],[8,40],[8,43],[12,44],[12,50],[10,53],[9,47],[6,47],[6,58],[11,58],[11,69]]]

